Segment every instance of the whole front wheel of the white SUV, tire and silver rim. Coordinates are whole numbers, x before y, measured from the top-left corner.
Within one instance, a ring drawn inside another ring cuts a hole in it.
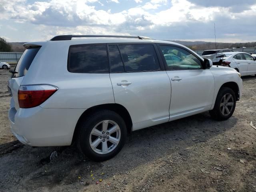
[[[236,94],[228,87],[223,87],[218,92],[213,110],[209,113],[216,120],[227,120],[236,108]]]

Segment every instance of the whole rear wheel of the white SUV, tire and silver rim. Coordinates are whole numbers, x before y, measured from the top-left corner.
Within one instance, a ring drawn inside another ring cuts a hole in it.
[[[126,135],[122,117],[113,111],[102,110],[80,123],[76,142],[85,156],[94,161],[104,161],[120,152]]]

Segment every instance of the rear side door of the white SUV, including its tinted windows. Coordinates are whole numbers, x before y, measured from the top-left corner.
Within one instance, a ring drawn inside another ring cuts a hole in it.
[[[171,84],[154,44],[109,44],[110,79],[133,130],[168,122]],[[162,65],[162,66],[160,66]]]

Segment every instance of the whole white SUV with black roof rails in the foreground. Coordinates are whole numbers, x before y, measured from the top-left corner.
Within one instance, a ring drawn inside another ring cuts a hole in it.
[[[30,146],[76,142],[88,158],[107,160],[130,131],[205,111],[226,120],[241,98],[236,70],[173,42],[66,35],[24,47],[8,82],[9,119]]]

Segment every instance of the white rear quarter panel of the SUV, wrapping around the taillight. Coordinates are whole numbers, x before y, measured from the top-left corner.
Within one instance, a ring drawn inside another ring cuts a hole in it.
[[[48,41],[34,59],[22,85],[51,84],[59,89],[42,103],[43,108],[90,108],[114,103],[109,74],[71,73],[67,69],[72,41]]]

